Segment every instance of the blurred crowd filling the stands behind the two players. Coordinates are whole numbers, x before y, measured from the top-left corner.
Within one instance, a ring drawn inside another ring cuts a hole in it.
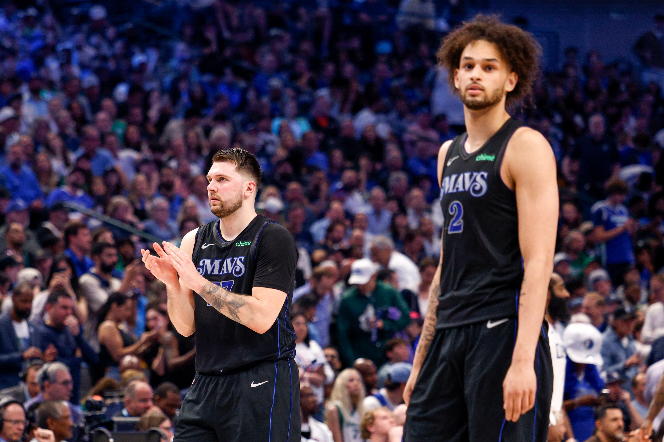
[[[70,440],[91,396],[168,437],[195,346],[137,250],[214,220],[205,173],[240,147],[258,211],[297,242],[303,440],[400,440],[440,259],[436,157],[464,131],[436,63],[457,2],[163,2],[169,38],[29,3],[0,9],[0,437]],[[634,54],[567,48],[515,113],[558,161],[552,442],[635,429],[664,372],[664,15]]]

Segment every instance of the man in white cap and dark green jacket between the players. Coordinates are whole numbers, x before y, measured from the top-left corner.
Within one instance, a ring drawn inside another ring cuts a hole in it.
[[[410,323],[408,305],[394,288],[376,282],[377,271],[378,264],[367,258],[351,266],[348,283],[353,287],[344,294],[337,319],[339,353],[346,365],[359,356],[382,365],[385,343]]]

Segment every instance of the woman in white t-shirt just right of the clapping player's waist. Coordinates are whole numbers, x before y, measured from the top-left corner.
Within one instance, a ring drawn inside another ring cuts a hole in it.
[[[307,382],[319,404],[325,400],[325,385],[334,382],[335,372],[327,362],[321,346],[309,338],[307,321],[303,313],[291,313],[291,324],[295,330],[295,362],[304,372],[302,380]]]

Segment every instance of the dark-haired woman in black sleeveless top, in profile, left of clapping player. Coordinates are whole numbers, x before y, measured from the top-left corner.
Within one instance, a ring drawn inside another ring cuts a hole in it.
[[[120,380],[118,362],[125,355],[140,355],[157,339],[157,330],[147,331],[136,341],[127,331],[123,323],[132,315],[133,302],[123,293],[111,294],[106,303],[99,309],[99,325],[97,337],[99,341],[98,372],[94,378],[108,376]]]

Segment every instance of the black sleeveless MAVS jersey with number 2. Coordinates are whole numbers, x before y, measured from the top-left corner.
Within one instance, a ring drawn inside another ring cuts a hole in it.
[[[507,142],[522,124],[509,119],[476,152],[454,138],[440,186],[444,215],[438,328],[517,316],[523,262],[517,199],[500,176]]]

